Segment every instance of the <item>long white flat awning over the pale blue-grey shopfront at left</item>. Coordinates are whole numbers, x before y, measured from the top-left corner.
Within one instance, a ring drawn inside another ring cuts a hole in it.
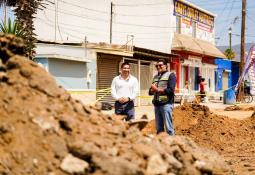
[[[79,62],[86,62],[86,63],[91,62],[91,60],[85,57],[73,57],[73,56],[60,55],[60,54],[37,54],[35,58],[55,58],[55,59],[79,61]]]

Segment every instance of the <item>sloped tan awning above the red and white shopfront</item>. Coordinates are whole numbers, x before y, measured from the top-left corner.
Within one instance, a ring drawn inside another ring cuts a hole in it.
[[[186,51],[210,57],[226,58],[226,56],[212,43],[183,34],[174,34],[173,51]]]

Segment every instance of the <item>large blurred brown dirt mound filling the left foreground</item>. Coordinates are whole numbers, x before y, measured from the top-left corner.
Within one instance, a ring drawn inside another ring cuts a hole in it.
[[[186,137],[144,136],[73,100],[37,64],[0,65],[0,174],[230,174]]]

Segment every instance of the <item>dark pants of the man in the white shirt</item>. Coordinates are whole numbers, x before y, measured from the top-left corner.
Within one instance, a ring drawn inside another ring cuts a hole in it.
[[[126,115],[127,116],[125,118],[126,121],[129,121],[135,118],[135,108],[134,108],[133,101],[129,101],[126,103],[120,103],[116,101],[114,106],[115,106],[115,114]]]

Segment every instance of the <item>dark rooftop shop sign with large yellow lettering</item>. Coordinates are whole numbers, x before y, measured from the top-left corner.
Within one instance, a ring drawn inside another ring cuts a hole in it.
[[[203,24],[214,26],[214,17],[191,7],[179,0],[174,0],[174,15],[181,15]]]

